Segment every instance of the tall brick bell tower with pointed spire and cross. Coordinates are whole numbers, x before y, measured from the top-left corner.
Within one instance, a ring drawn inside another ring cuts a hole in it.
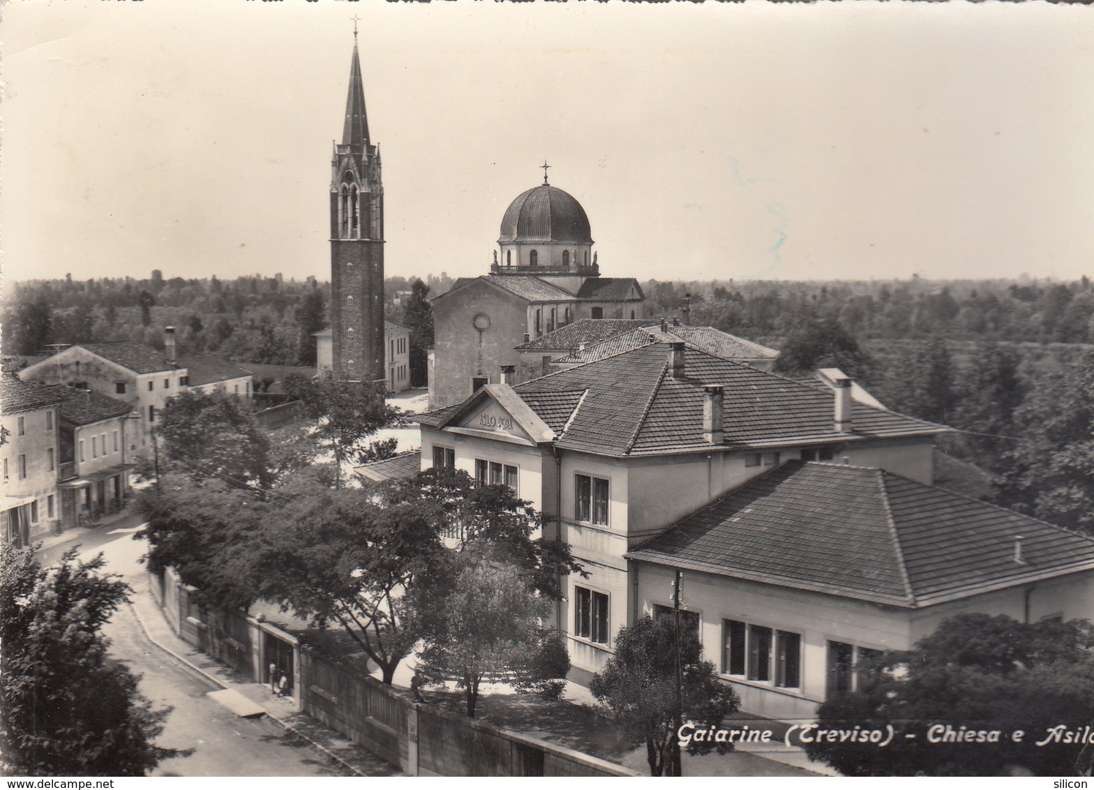
[[[330,330],[334,374],[376,381],[384,371],[384,187],[369,139],[353,30],[341,143],[330,162]]]

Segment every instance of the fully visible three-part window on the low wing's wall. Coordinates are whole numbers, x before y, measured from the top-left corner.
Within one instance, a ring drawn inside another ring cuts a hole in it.
[[[802,636],[740,620],[722,620],[722,674],[799,688]]]

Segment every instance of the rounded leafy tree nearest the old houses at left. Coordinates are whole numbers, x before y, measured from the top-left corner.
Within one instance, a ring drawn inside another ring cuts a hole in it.
[[[160,410],[156,435],[167,463],[196,480],[218,477],[236,488],[267,489],[275,478],[270,442],[240,398],[187,390]]]

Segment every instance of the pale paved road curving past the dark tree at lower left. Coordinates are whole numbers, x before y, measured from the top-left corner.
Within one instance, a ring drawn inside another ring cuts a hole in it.
[[[148,582],[139,559],[147,544],[133,541],[130,531],[138,524],[132,519],[82,532],[70,542],[43,551],[39,561],[48,564],[69,545],[79,543],[81,558],[103,551],[105,570],[120,573],[136,594],[144,594]],[[195,750],[188,757],[165,760],[152,776],[345,775],[277,722],[266,717],[241,719],[209,699],[206,694],[220,687],[152,644],[128,606],[114,615],[104,632],[113,641],[110,654],[141,675],[141,692],[153,707],[173,708],[158,742]]]

